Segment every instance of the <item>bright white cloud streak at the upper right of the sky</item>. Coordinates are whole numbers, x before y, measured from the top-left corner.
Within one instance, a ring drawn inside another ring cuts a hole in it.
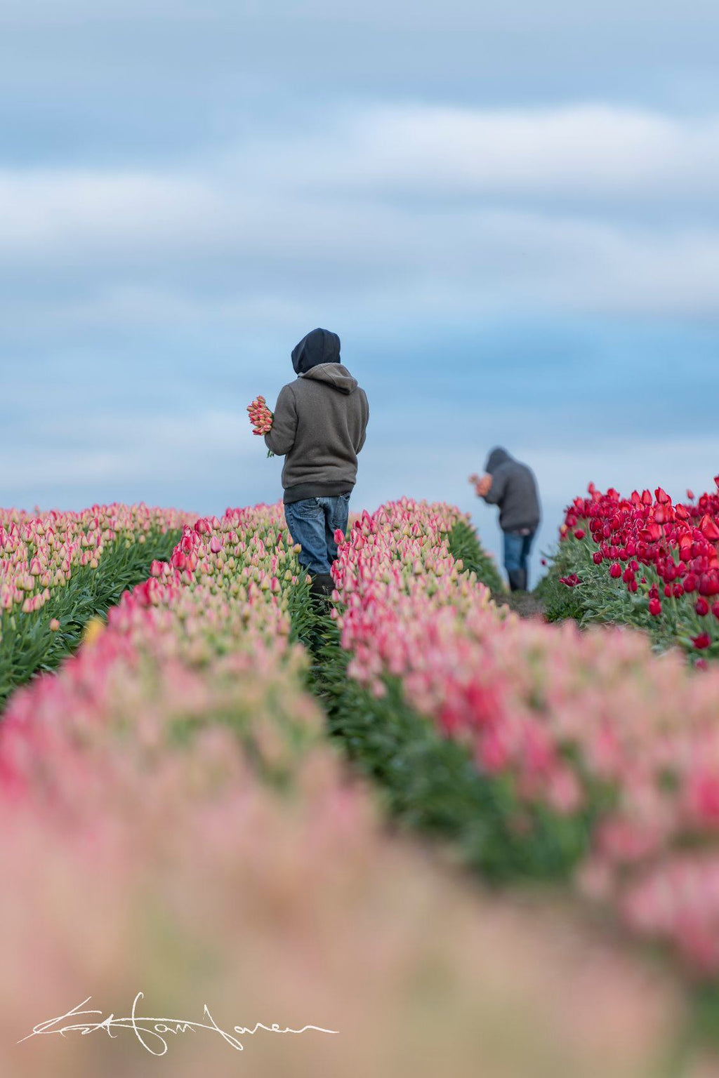
[[[308,185],[645,201],[680,192],[716,198],[719,181],[716,115],[674,119],[603,105],[405,106],[371,109],[342,130],[331,141],[284,148],[296,150]]]

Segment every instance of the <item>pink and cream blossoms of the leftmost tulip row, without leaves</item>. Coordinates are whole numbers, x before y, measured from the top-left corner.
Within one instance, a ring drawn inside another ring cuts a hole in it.
[[[97,569],[108,548],[144,543],[194,521],[170,509],[93,506],[82,512],[52,510],[31,516],[0,509],[0,611],[40,610],[56,588],[64,588],[81,566]]]

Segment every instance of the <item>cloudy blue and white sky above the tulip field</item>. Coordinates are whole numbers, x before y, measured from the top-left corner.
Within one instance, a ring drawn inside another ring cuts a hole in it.
[[[594,9],[594,10],[592,10]],[[0,503],[274,500],[245,405],[335,330],[355,506],[552,541],[590,480],[719,471],[719,8],[695,0],[9,0]]]

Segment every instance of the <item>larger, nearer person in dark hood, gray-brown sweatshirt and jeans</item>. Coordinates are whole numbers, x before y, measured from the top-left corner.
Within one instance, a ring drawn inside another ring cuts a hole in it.
[[[312,590],[330,595],[337,556],[334,533],[345,531],[357,454],[364,445],[367,393],[340,362],[340,337],[313,330],[292,351],[298,375],[279,391],[267,448],[285,457],[285,519],[302,547],[300,561]]]

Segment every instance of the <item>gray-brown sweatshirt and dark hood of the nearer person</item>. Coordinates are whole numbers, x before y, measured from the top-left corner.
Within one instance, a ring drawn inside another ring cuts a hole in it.
[[[312,359],[335,354],[336,359],[309,365]],[[286,458],[285,502],[348,494],[357,481],[357,454],[370,417],[367,395],[340,363],[336,334],[313,330],[292,357],[299,376],[280,389],[272,430],[265,434],[267,448]]]

